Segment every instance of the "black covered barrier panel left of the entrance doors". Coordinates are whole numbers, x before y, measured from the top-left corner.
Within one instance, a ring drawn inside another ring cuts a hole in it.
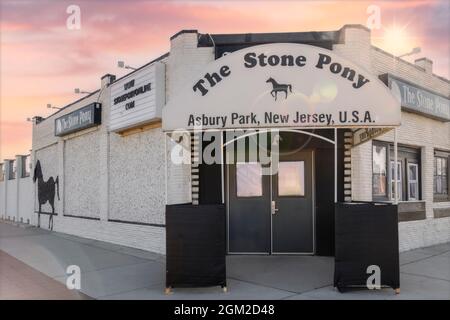
[[[166,288],[226,287],[225,206],[166,206]]]

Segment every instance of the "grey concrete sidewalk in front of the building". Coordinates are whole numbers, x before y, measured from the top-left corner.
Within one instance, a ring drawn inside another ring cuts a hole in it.
[[[2,221],[0,250],[61,283],[67,266],[78,265],[81,292],[95,299],[450,299],[450,243],[400,255],[400,295],[337,292],[329,257],[228,256],[227,293],[176,288],[166,296],[159,254]]]

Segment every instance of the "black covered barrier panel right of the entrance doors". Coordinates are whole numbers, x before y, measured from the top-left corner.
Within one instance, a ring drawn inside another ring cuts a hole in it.
[[[400,287],[396,205],[337,203],[335,245],[334,286],[340,291],[367,288],[378,267],[382,287]]]

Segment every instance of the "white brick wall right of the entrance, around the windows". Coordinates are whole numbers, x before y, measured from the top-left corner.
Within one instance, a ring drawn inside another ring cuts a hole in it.
[[[375,74],[390,73],[428,90],[449,96],[449,82],[425,72],[425,69],[394,58],[370,45],[370,32],[363,28],[344,28],[344,44],[334,46],[337,53],[359,63]],[[422,195],[426,220],[399,223],[400,250],[410,250],[450,241],[450,218],[435,219],[433,208],[449,208],[450,202],[433,202],[434,149],[450,151],[450,124],[414,113],[402,112],[398,143],[418,147],[422,155]],[[393,131],[378,137],[393,142]],[[372,200],[372,143],[352,149],[353,200]]]

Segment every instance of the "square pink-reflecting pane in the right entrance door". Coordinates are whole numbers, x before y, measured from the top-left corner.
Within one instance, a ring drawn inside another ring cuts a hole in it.
[[[283,161],[278,167],[278,195],[305,195],[305,162]]]

